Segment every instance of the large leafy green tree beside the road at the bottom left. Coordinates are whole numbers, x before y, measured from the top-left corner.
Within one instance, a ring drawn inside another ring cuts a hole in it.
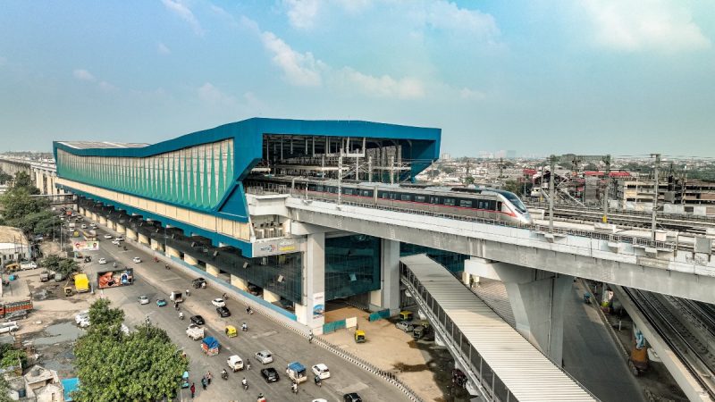
[[[109,304],[99,300],[90,307],[92,325],[74,347],[82,385],[72,398],[80,402],[172,399],[187,360],[166,331],[153,325],[139,325],[129,335],[117,331],[123,312]],[[93,314],[109,318],[102,321]]]

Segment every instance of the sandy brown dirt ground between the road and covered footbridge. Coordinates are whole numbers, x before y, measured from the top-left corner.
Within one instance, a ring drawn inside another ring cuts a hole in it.
[[[355,328],[338,330],[322,337],[384,371],[395,373],[421,398],[438,402],[469,400],[464,389],[452,389],[454,360],[450,352],[433,340],[412,339],[411,332],[395,327],[396,320],[369,322],[368,314],[352,306],[329,304],[325,322],[357,317],[357,327],[366,331],[365,343],[355,343]]]

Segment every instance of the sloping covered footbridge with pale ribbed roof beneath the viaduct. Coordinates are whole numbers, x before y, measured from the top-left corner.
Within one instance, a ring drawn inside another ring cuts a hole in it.
[[[484,400],[598,400],[427,255],[400,258],[400,273]]]

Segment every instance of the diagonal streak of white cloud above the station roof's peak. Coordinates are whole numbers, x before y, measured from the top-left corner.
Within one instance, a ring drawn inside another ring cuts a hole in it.
[[[296,52],[273,32],[261,33],[261,41],[273,54],[273,63],[283,71],[285,80],[299,87],[321,85],[320,70],[324,68],[324,63],[315,60],[313,54]]]

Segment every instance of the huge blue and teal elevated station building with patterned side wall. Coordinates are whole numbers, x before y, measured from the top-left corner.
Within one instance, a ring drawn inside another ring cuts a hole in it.
[[[253,118],[151,145],[55,141],[55,185],[79,197],[80,214],[317,330],[334,299],[397,309],[400,254],[425,250],[293,221],[284,199],[299,195],[261,180],[410,181],[437,159],[440,138],[368,121]]]

